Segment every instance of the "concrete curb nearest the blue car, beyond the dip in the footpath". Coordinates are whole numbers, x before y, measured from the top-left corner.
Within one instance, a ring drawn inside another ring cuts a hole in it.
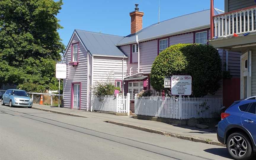
[[[175,138],[180,138],[180,139],[184,139],[184,140],[188,140],[188,141],[200,142],[200,143],[206,143],[206,144],[212,144],[212,145],[215,145],[215,146],[225,147],[224,144],[222,144],[220,142],[217,142],[217,141],[212,141],[212,140],[209,140],[209,139],[203,139],[203,138],[187,136],[187,135],[177,135],[177,134],[165,132],[165,131],[162,131],[162,130],[155,130],[155,129],[152,129],[152,128],[141,127],[141,126],[138,126],[138,125],[131,125],[131,124],[121,123],[121,122],[116,122],[116,121],[104,121],[104,122],[112,123],[112,124],[115,124],[115,125],[121,125],[121,126],[124,126],[124,127],[129,127],[129,128],[133,128],[133,129],[137,129],[137,130],[142,130],[142,131],[145,131],[145,132],[165,135],[165,136],[168,136],[168,137],[175,137]]]

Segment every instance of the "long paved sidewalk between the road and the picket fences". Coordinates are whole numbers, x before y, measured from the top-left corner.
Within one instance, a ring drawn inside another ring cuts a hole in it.
[[[68,108],[51,107],[48,105],[33,104],[33,109],[55,112],[64,115],[72,115],[79,117],[93,117],[103,121],[108,121],[116,125],[122,125],[134,129],[144,130],[147,132],[158,133],[166,136],[177,137],[195,142],[208,143],[223,146],[217,140],[216,132],[210,130],[201,130],[188,126],[169,125],[166,123],[134,119],[131,116],[116,116],[106,113],[87,112],[84,110],[74,110]]]

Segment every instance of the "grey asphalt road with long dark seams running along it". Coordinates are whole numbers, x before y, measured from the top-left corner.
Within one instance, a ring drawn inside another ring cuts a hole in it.
[[[226,148],[28,108],[0,107],[0,159],[226,160]]]

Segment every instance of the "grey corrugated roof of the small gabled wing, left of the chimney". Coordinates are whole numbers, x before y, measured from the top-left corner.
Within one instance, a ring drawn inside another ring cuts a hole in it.
[[[123,36],[77,29],[75,29],[75,32],[92,55],[124,56],[124,53],[116,47],[116,43],[122,40]]]

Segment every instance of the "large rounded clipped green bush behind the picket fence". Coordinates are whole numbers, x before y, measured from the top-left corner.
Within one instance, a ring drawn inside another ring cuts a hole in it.
[[[192,96],[202,97],[215,94],[220,88],[222,78],[221,59],[218,51],[211,45],[177,44],[162,51],[155,59],[150,81],[157,91],[170,94],[164,88],[164,76],[192,76]]]

